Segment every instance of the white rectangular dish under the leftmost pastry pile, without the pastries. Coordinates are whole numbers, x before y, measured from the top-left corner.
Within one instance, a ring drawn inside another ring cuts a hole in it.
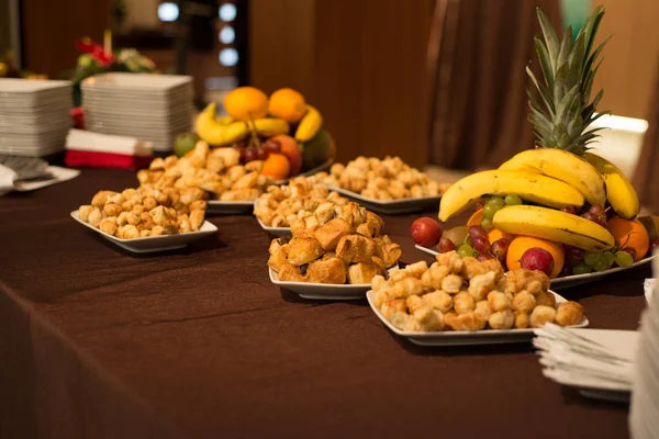
[[[188,244],[204,236],[210,236],[217,232],[217,227],[211,222],[204,221],[199,232],[191,232],[187,234],[178,235],[163,235],[163,236],[149,236],[147,238],[136,239],[120,239],[115,236],[109,235],[100,229],[96,228],[91,224],[88,224],[80,219],[78,211],[71,212],[71,217],[85,227],[91,228],[103,238],[116,244],[119,247],[132,251],[134,254],[150,254],[155,251],[174,250],[177,248],[183,248]]]

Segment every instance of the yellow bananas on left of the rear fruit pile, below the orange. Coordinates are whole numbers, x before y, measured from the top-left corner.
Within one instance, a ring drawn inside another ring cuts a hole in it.
[[[261,117],[252,122],[234,122],[231,117],[215,119],[215,102],[210,103],[197,117],[197,134],[213,146],[228,146],[249,135],[253,128],[256,134],[271,137],[289,132],[289,124],[279,117]]]

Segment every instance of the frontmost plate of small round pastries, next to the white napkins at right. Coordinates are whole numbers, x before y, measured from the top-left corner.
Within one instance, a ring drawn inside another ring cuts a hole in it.
[[[546,323],[589,325],[583,307],[549,290],[540,271],[504,274],[493,259],[440,254],[389,279],[376,275],[367,292],[373,313],[395,335],[420,346],[527,342]]]

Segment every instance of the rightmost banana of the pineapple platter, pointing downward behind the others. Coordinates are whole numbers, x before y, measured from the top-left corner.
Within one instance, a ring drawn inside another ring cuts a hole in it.
[[[640,203],[629,179],[615,165],[601,156],[585,153],[583,158],[604,177],[606,199],[615,213],[627,219],[638,215]]]

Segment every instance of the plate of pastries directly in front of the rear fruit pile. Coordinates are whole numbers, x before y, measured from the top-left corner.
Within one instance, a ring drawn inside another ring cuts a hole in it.
[[[209,214],[249,214],[255,200],[273,184],[260,173],[263,166],[261,160],[243,165],[236,149],[211,149],[200,140],[181,158],[155,158],[148,169],[137,172],[137,180],[143,187],[203,191]]]

